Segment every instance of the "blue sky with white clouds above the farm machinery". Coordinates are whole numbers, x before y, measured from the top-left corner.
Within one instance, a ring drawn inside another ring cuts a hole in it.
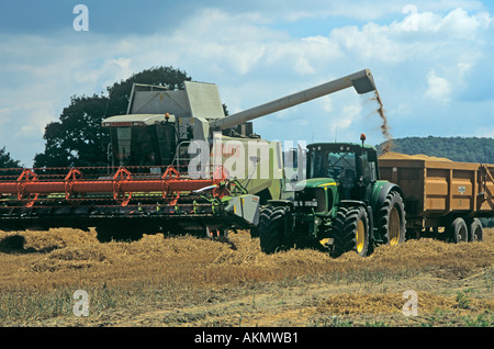
[[[75,31],[76,4],[89,31]],[[214,82],[231,112],[369,68],[396,137],[494,137],[492,1],[16,0],[0,4],[0,147],[25,166],[74,94],[153,66]],[[345,90],[256,120],[267,139],[379,144]]]

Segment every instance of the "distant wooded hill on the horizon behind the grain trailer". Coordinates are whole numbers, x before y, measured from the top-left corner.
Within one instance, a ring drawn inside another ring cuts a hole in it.
[[[386,143],[377,146],[378,153]],[[460,162],[494,164],[494,138],[485,137],[405,137],[393,139],[391,151],[424,154]]]

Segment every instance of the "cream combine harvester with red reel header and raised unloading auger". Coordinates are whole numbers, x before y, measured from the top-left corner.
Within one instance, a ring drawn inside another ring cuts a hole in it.
[[[215,85],[184,86],[184,91],[133,86],[127,114],[102,122],[111,134],[111,166],[1,169],[0,229],[96,227],[101,241],[144,233],[221,236],[232,228],[257,229],[260,204],[287,193],[281,144],[260,139],[249,121],[350,87],[358,93],[375,90],[366,69],[225,116]],[[248,153],[245,171],[233,177],[223,166],[235,155],[225,149],[232,142],[267,146],[269,156]],[[210,161],[191,167],[204,145],[201,156]],[[263,167],[267,178],[251,176]]]

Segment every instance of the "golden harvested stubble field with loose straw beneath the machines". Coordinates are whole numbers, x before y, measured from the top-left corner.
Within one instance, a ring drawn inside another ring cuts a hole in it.
[[[483,243],[381,246],[368,258],[265,255],[227,240],[96,232],[0,232],[1,326],[493,326],[494,229]],[[74,292],[89,316],[72,313]],[[417,295],[405,316],[405,291]]]

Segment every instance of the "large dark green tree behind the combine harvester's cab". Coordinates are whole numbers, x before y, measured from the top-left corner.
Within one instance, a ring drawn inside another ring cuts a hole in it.
[[[132,85],[156,85],[177,90],[184,88],[186,80],[191,80],[186,71],[151,67],[108,87],[108,95],[71,97],[70,105],[64,108],[59,121],[46,125],[45,150],[36,154],[34,167],[105,166],[110,137],[108,130],[101,127],[101,121],[127,112]]]

